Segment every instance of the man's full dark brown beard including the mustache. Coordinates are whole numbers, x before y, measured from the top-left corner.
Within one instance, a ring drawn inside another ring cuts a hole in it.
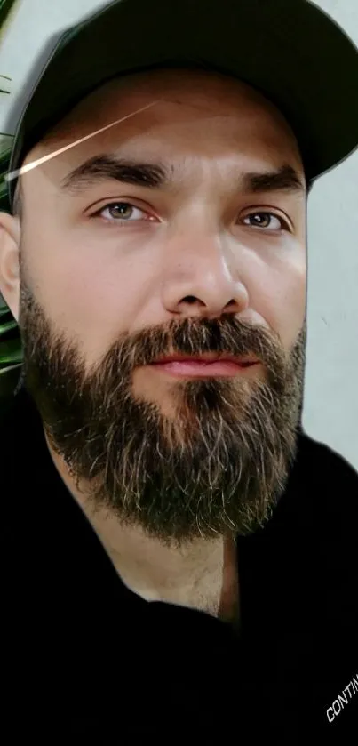
[[[185,318],[122,333],[88,370],[21,283],[23,384],[55,453],[94,507],[166,545],[256,531],[272,515],[294,461],[306,327],[293,349],[232,315]],[[135,396],[132,374],[169,353],[259,358],[265,380],[175,381],[175,414]]]

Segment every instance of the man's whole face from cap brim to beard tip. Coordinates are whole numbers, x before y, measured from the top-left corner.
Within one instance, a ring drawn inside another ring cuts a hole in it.
[[[302,403],[298,145],[243,84],[156,71],[91,94],[25,163],[120,118],[22,177],[26,385],[71,478],[124,523],[247,533],[282,493]],[[155,365],[203,353],[255,365]]]

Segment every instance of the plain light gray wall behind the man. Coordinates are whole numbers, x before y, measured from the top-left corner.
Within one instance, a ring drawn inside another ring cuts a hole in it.
[[[44,41],[103,4],[18,0],[0,46],[0,71],[12,76],[12,102],[2,97],[0,130],[11,103],[23,100],[21,86]],[[357,0],[316,4],[358,44]],[[319,180],[309,199],[307,309],[304,427],[358,469],[358,151]]]

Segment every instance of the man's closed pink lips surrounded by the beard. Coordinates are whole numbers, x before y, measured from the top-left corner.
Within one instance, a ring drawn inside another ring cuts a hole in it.
[[[259,365],[256,357],[203,353],[198,356],[169,355],[159,357],[152,367],[176,378],[232,377]]]

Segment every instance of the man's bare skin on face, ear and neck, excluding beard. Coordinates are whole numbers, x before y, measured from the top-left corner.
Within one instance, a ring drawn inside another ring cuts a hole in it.
[[[245,172],[289,164],[304,182],[304,168],[289,124],[259,93],[198,71],[129,76],[82,101],[25,164],[158,100],[22,176],[21,217],[0,214],[5,301],[19,320],[26,282],[52,328],[76,344],[85,373],[121,333],[224,314],[274,334],[289,355],[306,317],[306,192],[252,194],[240,180]],[[171,168],[171,185],[148,189],[107,179],[77,192],[61,189],[69,172],[103,153],[161,161]],[[106,209],[119,201],[134,206],[122,225]],[[270,213],[267,224],[252,219],[257,213]],[[243,375],[249,389],[267,377],[262,365]],[[139,365],[131,387],[174,421],[178,383]],[[46,431],[45,437],[124,582],[144,598],[230,616],[238,580],[229,532],[174,546],[140,525],[124,525],[92,504],[90,485],[76,483]]]

